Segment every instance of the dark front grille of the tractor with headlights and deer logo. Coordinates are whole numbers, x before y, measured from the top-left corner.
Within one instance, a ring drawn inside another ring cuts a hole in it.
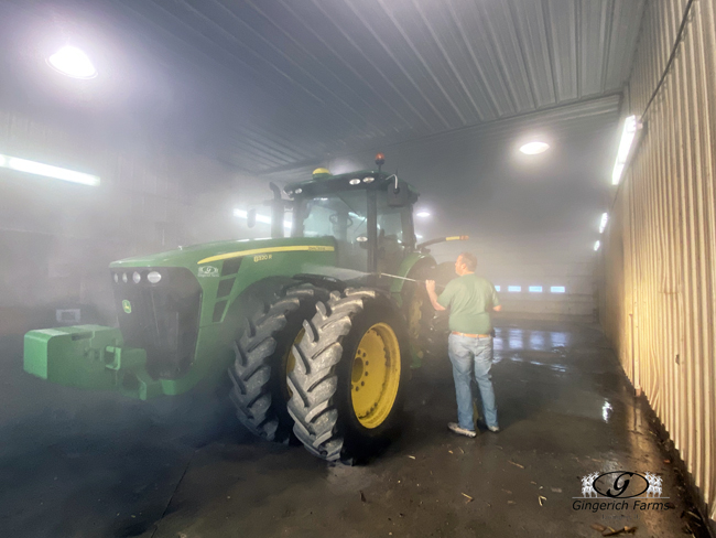
[[[158,283],[147,280],[150,271],[162,276]],[[124,344],[147,351],[147,369],[154,379],[182,377],[194,359],[199,329],[202,288],[196,277],[183,267],[111,272]]]

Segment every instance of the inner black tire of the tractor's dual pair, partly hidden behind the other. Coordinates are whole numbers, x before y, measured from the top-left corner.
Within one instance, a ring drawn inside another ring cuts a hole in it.
[[[327,297],[326,290],[305,282],[272,279],[241,299],[250,304],[234,341],[229,398],[241,423],[268,441],[283,442],[291,435],[293,419],[286,410],[291,349],[303,336],[303,321]]]

